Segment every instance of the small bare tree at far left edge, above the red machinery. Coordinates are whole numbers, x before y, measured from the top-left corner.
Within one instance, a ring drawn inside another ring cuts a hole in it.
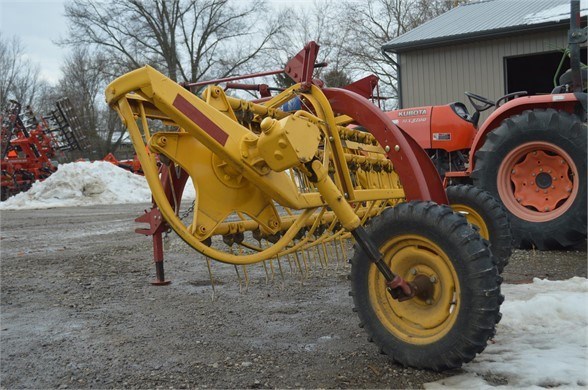
[[[25,58],[17,37],[7,38],[0,32],[0,108],[9,99],[23,105],[33,102],[39,82],[39,66]]]

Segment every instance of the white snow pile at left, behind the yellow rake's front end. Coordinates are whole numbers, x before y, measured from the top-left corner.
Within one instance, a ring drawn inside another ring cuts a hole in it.
[[[194,199],[189,179],[184,198]],[[60,165],[57,172],[27,191],[0,203],[0,210],[46,209],[101,204],[148,203],[151,191],[145,177],[105,161]]]

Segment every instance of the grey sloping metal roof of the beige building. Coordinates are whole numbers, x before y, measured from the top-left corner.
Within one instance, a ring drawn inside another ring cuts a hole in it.
[[[581,15],[588,14],[588,0],[581,0]],[[570,0],[487,0],[469,3],[408,31],[382,46],[389,52],[422,49],[496,37],[512,32],[567,25]]]

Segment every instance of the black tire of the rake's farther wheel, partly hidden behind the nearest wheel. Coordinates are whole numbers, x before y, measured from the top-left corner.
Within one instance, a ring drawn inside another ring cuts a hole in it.
[[[469,184],[447,187],[449,205],[461,204],[475,210],[484,220],[488,229],[490,250],[496,257],[498,273],[504,271],[512,255],[513,236],[508,212],[488,191]]]

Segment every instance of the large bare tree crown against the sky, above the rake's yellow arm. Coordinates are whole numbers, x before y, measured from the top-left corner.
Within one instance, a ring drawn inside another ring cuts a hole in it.
[[[260,0],[73,0],[65,9],[63,43],[99,47],[127,68],[154,65],[176,81],[234,74],[280,33]]]

